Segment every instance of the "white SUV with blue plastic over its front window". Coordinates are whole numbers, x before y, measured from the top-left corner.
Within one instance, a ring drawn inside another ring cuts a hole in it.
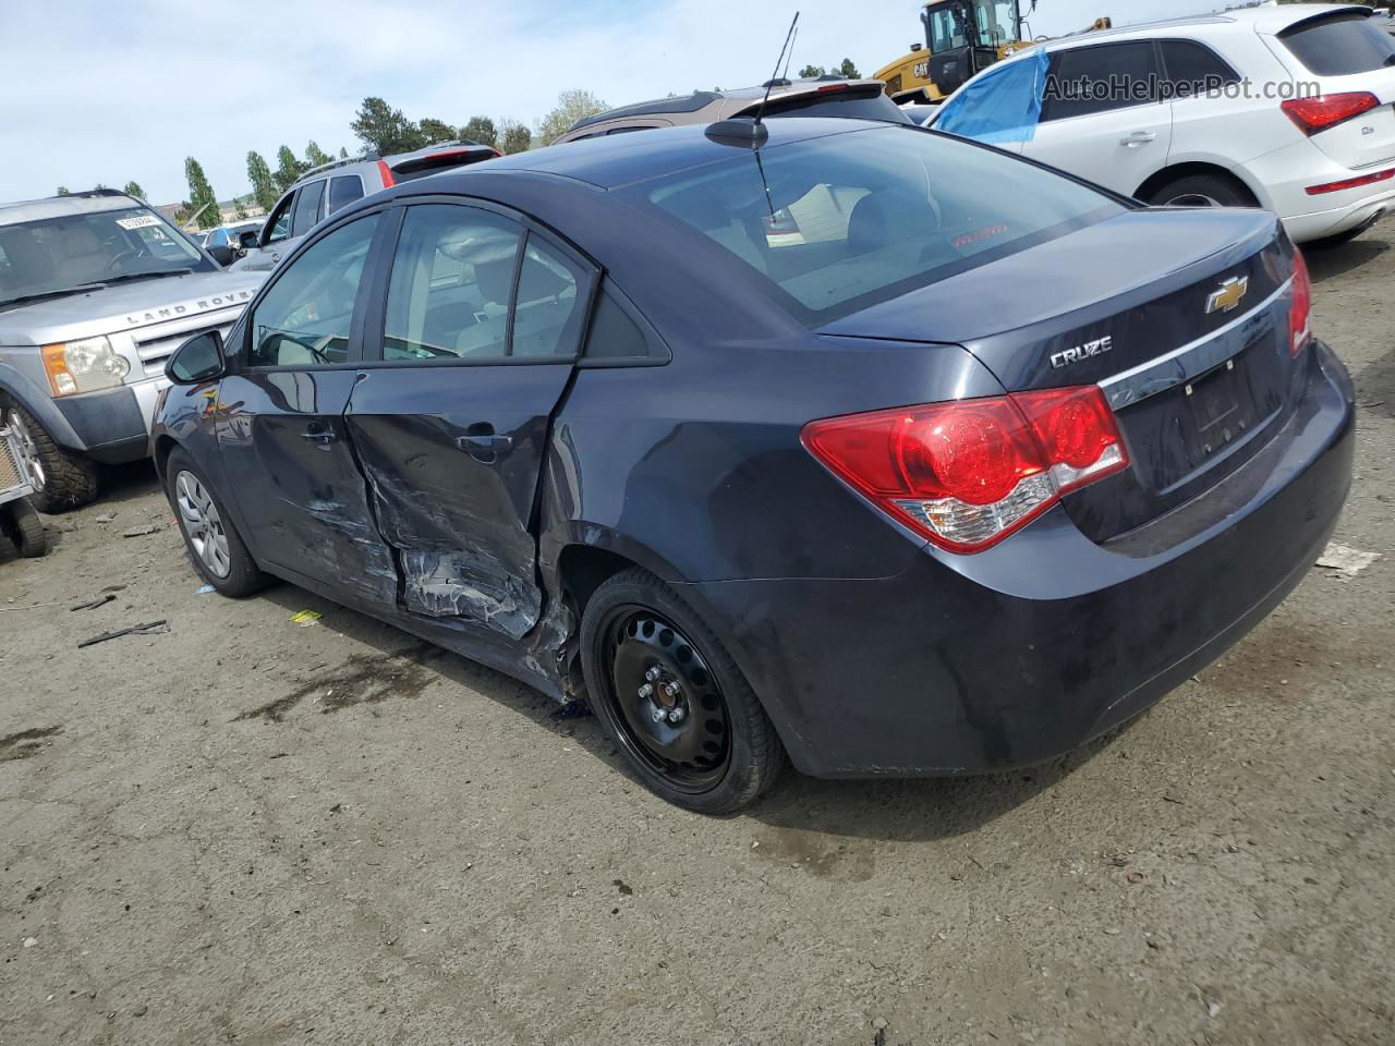
[[[1149,204],[1260,205],[1299,243],[1345,243],[1395,206],[1384,21],[1292,4],[1053,40],[971,79],[933,126]]]

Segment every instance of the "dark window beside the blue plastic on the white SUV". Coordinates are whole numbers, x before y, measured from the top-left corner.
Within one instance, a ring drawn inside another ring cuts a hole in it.
[[[1042,123],[1156,102],[1156,84],[1152,40],[1057,52],[1046,74]]]

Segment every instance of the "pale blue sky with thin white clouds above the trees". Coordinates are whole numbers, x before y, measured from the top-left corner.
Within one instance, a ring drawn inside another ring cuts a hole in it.
[[[1216,3],[1039,0],[1031,26]],[[847,56],[870,74],[923,39],[915,0],[0,0],[0,199],[134,179],[174,202],[186,156],[229,199],[248,191],[248,149],[272,167],[283,142],[356,152],[365,95],[412,119],[531,126],[564,88],[624,105],[746,86],[770,74],[797,7],[794,68]]]

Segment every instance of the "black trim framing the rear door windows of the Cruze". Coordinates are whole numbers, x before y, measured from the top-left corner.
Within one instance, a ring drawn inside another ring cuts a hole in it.
[[[407,208],[410,206],[430,206],[445,204],[449,206],[469,206],[477,211],[488,211],[511,222],[516,222],[520,229],[519,236],[519,251],[513,259],[513,283],[509,287],[509,325],[508,325],[508,356],[491,356],[483,360],[466,360],[460,357],[442,357],[438,360],[384,360],[382,358],[382,340],[386,332],[386,314],[388,314],[388,282],[392,279],[392,262],[398,251],[398,240],[402,234],[402,222],[406,218]],[[601,285],[601,268],[576,250],[571,243],[565,241],[562,237],[554,234],[550,229],[541,223],[533,220],[520,211],[515,211],[511,206],[498,204],[492,199],[484,199],[481,197],[466,197],[466,195],[420,195],[407,197],[402,199],[395,199],[388,204],[389,208],[396,211],[396,220],[389,222],[391,238],[384,240],[384,243],[375,243],[374,251],[378,252],[377,265],[374,269],[374,282],[370,287],[370,301],[372,307],[364,317],[364,331],[363,331],[363,356],[359,360],[360,367],[364,370],[386,370],[398,367],[576,367],[582,358],[582,353],[586,349],[586,336],[590,333],[590,318],[596,308],[596,296]],[[580,338],[578,339],[576,353],[572,356],[513,356],[513,305],[518,297],[519,287],[519,272],[523,265],[523,257],[527,252],[529,240],[537,236],[550,250],[566,257],[573,265],[576,265],[582,278],[587,282],[586,287],[578,287],[578,294],[586,296],[583,303],[585,321],[582,324]],[[361,289],[361,287],[360,287]]]

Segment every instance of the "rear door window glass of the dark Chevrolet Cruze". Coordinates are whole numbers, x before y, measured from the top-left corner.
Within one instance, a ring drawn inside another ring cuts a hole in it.
[[[409,208],[388,283],[382,358],[575,356],[582,273],[541,240],[527,237],[525,247],[525,238],[518,222],[490,211]]]

